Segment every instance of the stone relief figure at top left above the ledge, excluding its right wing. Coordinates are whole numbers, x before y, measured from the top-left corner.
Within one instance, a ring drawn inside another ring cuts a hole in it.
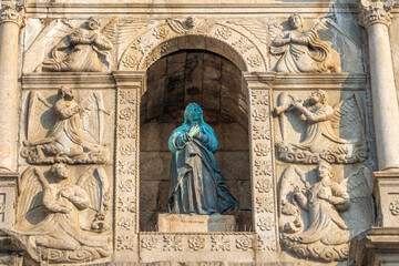
[[[110,24],[110,27],[112,25]],[[100,20],[94,18],[90,18],[82,28],[73,29],[71,27],[72,32],[60,40],[51,50],[50,58],[39,65],[37,71],[110,71],[113,44],[106,35],[99,31],[100,27]],[[103,32],[106,33],[110,27],[105,27]]]

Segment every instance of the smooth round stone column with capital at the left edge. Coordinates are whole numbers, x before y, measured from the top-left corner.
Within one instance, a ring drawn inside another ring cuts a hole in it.
[[[2,1],[0,10],[0,172],[17,170],[18,44],[22,7]]]

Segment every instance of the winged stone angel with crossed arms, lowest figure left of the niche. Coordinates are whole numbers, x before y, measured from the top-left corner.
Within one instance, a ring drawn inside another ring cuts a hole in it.
[[[57,163],[50,173],[54,183],[33,166],[21,176],[16,228],[32,258],[79,263],[110,256],[105,171],[91,166],[75,181],[65,164]]]

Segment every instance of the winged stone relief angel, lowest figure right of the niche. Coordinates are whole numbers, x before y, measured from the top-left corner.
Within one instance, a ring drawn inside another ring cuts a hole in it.
[[[321,161],[317,182],[310,185],[296,167],[287,167],[280,181],[282,243],[301,258],[321,262],[347,259],[348,242],[372,223],[370,171],[361,166],[341,182]]]

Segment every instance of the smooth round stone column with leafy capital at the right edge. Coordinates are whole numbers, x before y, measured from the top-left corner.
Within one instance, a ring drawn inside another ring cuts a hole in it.
[[[360,0],[368,32],[372,108],[379,170],[399,170],[399,110],[389,42],[392,0]]]

